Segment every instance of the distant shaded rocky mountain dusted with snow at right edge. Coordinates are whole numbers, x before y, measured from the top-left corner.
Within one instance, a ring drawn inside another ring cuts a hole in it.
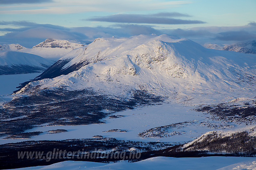
[[[256,54],[256,40],[224,46],[222,50]]]

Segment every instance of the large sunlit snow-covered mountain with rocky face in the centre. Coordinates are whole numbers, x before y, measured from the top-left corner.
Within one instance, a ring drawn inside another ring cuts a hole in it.
[[[154,34],[98,38],[68,53],[39,76],[43,80],[31,82],[29,87],[91,87],[117,95],[123,89],[143,87],[165,96],[176,92],[223,96],[244,87],[255,90],[256,86],[249,86],[255,84],[255,66],[254,55],[205,49],[185,38]]]

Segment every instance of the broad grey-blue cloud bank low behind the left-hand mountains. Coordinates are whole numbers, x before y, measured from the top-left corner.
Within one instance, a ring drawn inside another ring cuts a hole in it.
[[[94,40],[98,37],[130,37],[139,34],[164,34],[162,31],[152,28],[150,25],[119,24],[112,25],[111,27],[65,28],[58,25],[46,25],[48,27],[44,27],[42,26],[44,24],[30,22],[11,23],[30,26],[33,25],[34,27],[1,28],[2,30],[13,32],[0,36],[0,44],[19,43],[20,45],[28,48],[35,46],[47,38],[65,40]]]

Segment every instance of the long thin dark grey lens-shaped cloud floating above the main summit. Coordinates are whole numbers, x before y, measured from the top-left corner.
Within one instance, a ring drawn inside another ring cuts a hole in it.
[[[103,22],[117,22],[117,23],[147,23],[147,24],[203,24],[204,21],[199,20],[183,20],[160,16],[180,15],[180,13],[158,13],[155,15],[141,15],[141,14],[114,14],[110,16],[94,17],[84,19],[89,21],[103,21]]]

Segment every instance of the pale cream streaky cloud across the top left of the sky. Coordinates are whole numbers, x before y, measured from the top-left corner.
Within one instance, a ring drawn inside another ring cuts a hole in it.
[[[0,0],[1,1],[1,0]],[[9,2],[10,1],[10,2]],[[33,2],[33,0],[3,0],[2,3],[9,3],[9,7],[12,6],[11,1],[18,2]],[[72,0],[46,0],[39,2],[50,2],[44,3],[43,5],[31,4],[27,7],[27,4],[20,4],[18,8],[2,8],[0,14],[67,14],[67,13],[84,13],[84,12],[131,12],[131,11],[149,11],[149,10],[170,10],[174,7],[180,7],[184,4],[190,4],[193,1],[166,1],[166,0],[93,0],[93,1],[82,1]],[[1,3],[0,3],[1,4]],[[7,5],[7,4],[6,4]],[[1,7],[0,7],[1,8]]]

